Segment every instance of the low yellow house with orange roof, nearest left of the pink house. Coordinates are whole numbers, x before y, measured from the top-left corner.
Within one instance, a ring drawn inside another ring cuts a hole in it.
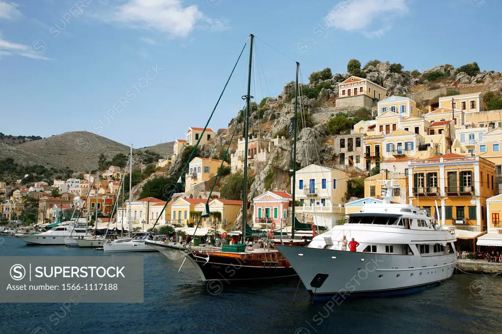
[[[195,211],[200,214],[204,211],[206,205],[205,200],[203,203],[199,203],[195,206]],[[209,202],[209,217],[202,218],[201,225],[202,228],[215,228],[227,229],[231,227],[239,212],[242,210],[242,201],[234,200],[224,200],[224,199],[214,199]]]

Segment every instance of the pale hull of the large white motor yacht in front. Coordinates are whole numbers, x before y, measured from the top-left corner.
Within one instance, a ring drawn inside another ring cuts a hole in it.
[[[409,256],[276,246],[315,297],[401,294],[438,284],[453,274],[455,254]]]

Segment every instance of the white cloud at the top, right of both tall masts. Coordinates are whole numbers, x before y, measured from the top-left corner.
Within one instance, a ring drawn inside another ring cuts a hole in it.
[[[382,36],[392,25],[390,18],[410,11],[406,0],[346,0],[338,3],[325,17],[332,27],[346,31],[361,31],[367,37]],[[368,31],[375,22],[386,22],[384,27]]]

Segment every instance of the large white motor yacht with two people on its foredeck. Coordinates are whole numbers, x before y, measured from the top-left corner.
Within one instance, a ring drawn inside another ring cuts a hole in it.
[[[393,193],[391,181],[382,204],[365,204],[306,247],[276,245],[313,298],[413,292],[451,277],[454,232],[434,225],[424,210],[391,204]],[[358,243],[356,251],[342,250],[344,235]]]

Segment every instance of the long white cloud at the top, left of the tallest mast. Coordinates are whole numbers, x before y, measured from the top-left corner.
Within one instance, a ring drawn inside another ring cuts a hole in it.
[[[122,5],[108,7],[98,15],[105,22],[158,30],[176,37],[188,36],[200,23],[217,30],[224,25],[204,16],[196,5],[183,7],[182,0],[127,0]]]

